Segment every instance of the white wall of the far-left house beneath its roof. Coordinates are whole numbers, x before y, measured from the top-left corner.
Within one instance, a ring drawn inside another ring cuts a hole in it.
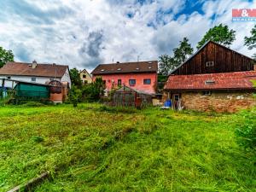
[[[10,76],[10,75],[0,75],[0,87],[2,86],[2,79],[6,79],[4,82],[5,87],[12,87],[12,81],[9,81],[7,78],[11,77],[11,80],[19,80],[19,81],[25,81],[25,82],[32,82],[32,83],[38,83],[38,84],[45,84],[47,81],[50,81],[52,78],[44,78],[44,77],[35,77],[36,81],[32,81],[32,77],[29,76]],[[56,78],[55,80],[61,80],[60,78]],[[15,83],[14,83],[15,86]]]

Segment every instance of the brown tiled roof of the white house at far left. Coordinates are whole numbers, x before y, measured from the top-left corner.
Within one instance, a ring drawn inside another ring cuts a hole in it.
[[[32,68],[32,63],[8,62],[0,68],[0,75],[20,75],[38,77],[61,78],[67,70],[67,66],[56,64],[37,64]]]

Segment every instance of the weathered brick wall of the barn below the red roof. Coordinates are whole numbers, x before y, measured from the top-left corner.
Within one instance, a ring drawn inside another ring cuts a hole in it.
[[[201,93],[182,93],[184,108],[198,111],[236,112],[243,108],[256,106],[253,93],[247,92],[212,92],[211,96]]]

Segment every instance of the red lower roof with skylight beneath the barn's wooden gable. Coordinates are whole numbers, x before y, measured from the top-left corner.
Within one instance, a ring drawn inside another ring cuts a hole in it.
[[[165,90],[252,90],[256,71],[170,75]]]

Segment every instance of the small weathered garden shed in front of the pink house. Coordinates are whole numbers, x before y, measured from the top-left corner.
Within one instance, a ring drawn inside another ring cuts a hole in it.
[[[141,108],[152,105],[152,95],[123,85],[113,90],[111,104],[112,106]]]

